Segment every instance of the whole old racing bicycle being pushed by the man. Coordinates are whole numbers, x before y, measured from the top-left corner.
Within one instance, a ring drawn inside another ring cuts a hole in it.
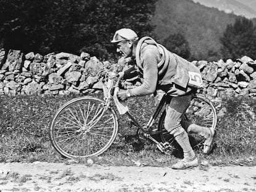
[[[113,75],[114,74],[114,75]],[[155,112],[151,115],[147,125],[142,126],[129,112],[127,106],[118,101],[116,93],[119,89],[121,77],[117,73],[107,73],[106,83],[103,83],[104,98],[82,96],[72,99],[61,106],[53,117],[49,127],[49,137],[54,149],[64,157],[84,158],[99,156],[105,152],[117,136],[119,129],[117,107],[119,114],[126,114],[132,125],[137,127],[137,134],[142,131],[143,137],[153,141],[161,152],[169,154],[174,148],[174,137],[164,129],[163,111],[167,95],[164,94]],[[158,128],[152,130],[153,123],[162,112]],[[196,95],[190,102],[183,117],[198,125],[215,129],[217,122],[216,109],[207,98]],[[157,141],[154,136],[160,136]]]

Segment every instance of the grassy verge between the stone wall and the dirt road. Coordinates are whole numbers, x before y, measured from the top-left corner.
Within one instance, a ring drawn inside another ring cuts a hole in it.
[[[67,162],[51,146],[48,127],[57,109],[75,97],[0,96],[0,162]],[[130,98],[128,105],[142,124],[155,109],[150,97]],[[223,100],[226,113],[218,122],[213,152],[206,156],[202,149],[195,148],[200,161],[211,165],[256,165],[255,106],[256,99],[251,98]],[[116,141],[100,157],[92,157],[93,162],[168,166],[177,161],[176,157],[181,157],[181,151],[168,156],[161,154],[150,141],[140,143],[135,137],[136,131],[135,127],[129,127],[127,118],[121,116]],[[87,160],[80,162],[87,164]]]

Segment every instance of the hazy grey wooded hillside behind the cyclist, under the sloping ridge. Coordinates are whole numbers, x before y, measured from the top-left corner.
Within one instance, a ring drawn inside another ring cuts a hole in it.
[[[151,22],[156,25],[154,33],[161,42],[174,33],[184,35],[189,42],[190,61],[218,61],[220,37],[228,23],[234,23],[237,17],[194,1],[158,0]]]

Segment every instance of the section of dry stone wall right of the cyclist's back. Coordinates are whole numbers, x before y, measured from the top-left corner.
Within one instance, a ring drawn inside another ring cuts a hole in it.
[[[244,56],[237,61],[194,61],[204,81],[203,93],[209,98],[256,96],[256,61]]]

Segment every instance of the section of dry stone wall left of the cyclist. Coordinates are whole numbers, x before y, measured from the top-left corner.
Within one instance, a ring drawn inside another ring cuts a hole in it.
[[[3,59],[4,51],[0,50],[0,62]],[[104,62],[86,52],[80,56],[66,52],[41,56],[10,50],[0,67],[0,94],[86,94],[102,88],[96,74]]]

